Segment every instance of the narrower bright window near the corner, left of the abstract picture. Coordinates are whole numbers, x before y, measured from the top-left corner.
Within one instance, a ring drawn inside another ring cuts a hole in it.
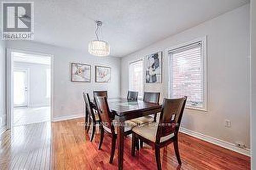
[[[129,89],[132,91],[139,91],[139,96],[143,93],[143,61],[131,62],[129,66],[130,79]]]

